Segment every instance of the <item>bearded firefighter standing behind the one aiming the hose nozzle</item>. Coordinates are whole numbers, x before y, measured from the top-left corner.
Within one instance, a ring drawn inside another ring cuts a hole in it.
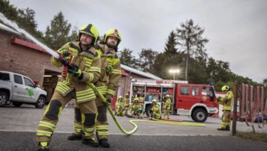
[[[120,32],[116,29],[108,30],[103,41],[97,43],[95,48],[99,56],[101,57],[101,75],[99,80],[95,83],[99,91],[105,96],[107,102],[111,102],[113,96],[116,93],[118,82],[120,81],[120,59],[116,54],[118,44],[121,41]],[[101,99],[97,96],[97,139],[99,145],[104,148],[109,148],[108,142],[108,128],[107,122],[107,104],[103,104]],[[76,106],[76,104],[75,104]],[[75,111],[79,108],[75,108]],[[81,116],[79,112],[75,112],[75,117]],[[74,124],[75,126],[75,124]],[[68,140],[80,139],[75,132],[72,136],[68,137]]]

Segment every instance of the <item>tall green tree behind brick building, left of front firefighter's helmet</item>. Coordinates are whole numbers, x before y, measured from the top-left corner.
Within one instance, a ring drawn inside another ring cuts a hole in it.
[[[59,12],[54,16],[50,27],[48,25],[44,32],[44,43],[51,47],[51,49],[59,49],[68,42],[70,31],[71,23],[65,21],[62,12]]]

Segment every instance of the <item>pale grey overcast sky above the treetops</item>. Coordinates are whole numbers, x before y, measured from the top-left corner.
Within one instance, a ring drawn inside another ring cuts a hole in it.
[[[122,34],[120,49],[137,56],[142,48],[164,51],[168,34],[189,19],[205,28],[207,54],[230,63],[238,75],[262,82],[267,78],[267,1],[168,0],[10,0],[17,8],[36,12],[42,32],[62,11],[73,26],[97,26],[101,35],[111,28]]]

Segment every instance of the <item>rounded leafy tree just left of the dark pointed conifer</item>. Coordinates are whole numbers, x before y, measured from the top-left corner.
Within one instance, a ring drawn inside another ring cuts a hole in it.
[[[157,55],[157,51],[153,51],[153,49],[142,49],[139,53],[140,59],[138,61],[140,69],[144,72],[151,72]]]

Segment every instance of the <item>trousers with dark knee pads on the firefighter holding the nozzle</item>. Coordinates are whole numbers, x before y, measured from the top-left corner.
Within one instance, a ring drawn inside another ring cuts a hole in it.
[[[36,141],[47,143],[51,141],[51,136],[53,135],[55,126],[58,123],[58,119],[60,118],[64,106],[66,106],[66,104],[70,100],[76,99],[75,97],[75,91],[68,93],[68,95],[66,95],[65,97],[63,97],[60,93],[56,91],[53,93],[51,101],[47,106],[46,110],[44,111],[42,120],[38,125]],[[79,108],[81,110],[81,113],[85,115],[85,121],[83,125],[85,132],[84,139],[91,139],[93,137],[95,129],[94,120],[97,113],[96,104],[94,101],[84,102],[79,104]],[[80,123],[79,121],[77,121],[77,124]]]

